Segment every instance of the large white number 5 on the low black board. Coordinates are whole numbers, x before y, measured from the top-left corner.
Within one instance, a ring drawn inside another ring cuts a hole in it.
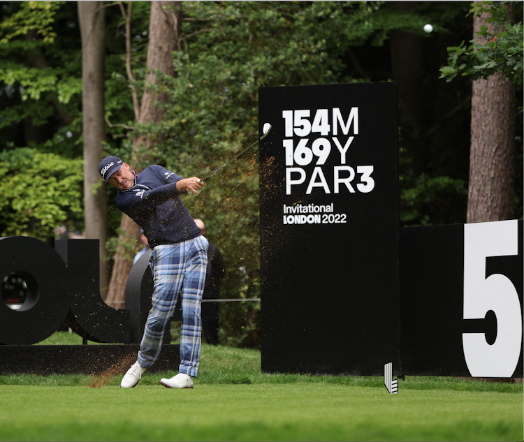
[[[497,338],[488,344],[483,333],[463,333],[467,368],[474,377],[511,377],[521,355],[521,302],[503,274],[486,278],[488,256],[518,254],[518,221],[464,225],[464,319],[497,316]]]

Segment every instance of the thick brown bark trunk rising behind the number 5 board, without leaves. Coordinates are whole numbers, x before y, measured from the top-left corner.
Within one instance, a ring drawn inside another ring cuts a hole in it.
[[[481,26],[493,25],[475,17],[474,36]],[[511,81],[492,75],[473,82],[468,223],[514,218],[515,119]]]

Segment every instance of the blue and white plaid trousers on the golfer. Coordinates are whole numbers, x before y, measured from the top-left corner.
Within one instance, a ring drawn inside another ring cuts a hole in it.
[[[150,255],[154,279],[152,309],[147,316],[138,352],[140,367],[149,368],[157,360],[163,332],[170,323],[182,295],[179,373],[196,377],[201,352],[201,302],[208,267],[209,242],[203,236],[177,244],[155,246]]]

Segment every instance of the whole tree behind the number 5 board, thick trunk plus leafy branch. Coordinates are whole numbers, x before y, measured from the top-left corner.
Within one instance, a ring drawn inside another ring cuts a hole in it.
[[[470,192],[467,222],[512,219],[515,214],[516,84],[522,86],[522,22],[511,7],[476,1],[474,40],[450,47],[442,77],[472,75]]]

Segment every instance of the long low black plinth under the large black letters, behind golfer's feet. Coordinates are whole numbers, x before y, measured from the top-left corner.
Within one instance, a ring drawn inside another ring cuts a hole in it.
[[[0,346],[0,374],[92,374],[107,371],[122,375],[136,362],[138,344]],[[147,371],[177,371],[180,345],[162,346],[157,361]]]

